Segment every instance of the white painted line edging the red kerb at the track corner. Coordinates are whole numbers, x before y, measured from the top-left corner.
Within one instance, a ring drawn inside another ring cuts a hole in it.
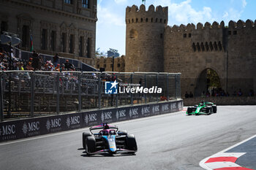
[[[244,141],[242,141],[242,142],[238,142],[237,144],[234,144],[233,146],[231,146],[231,147],[227,147],[227,149],[225,149],[225,150],[222,150],[222,151],[220,151],[220,152],[217,152],[216,154],[214,154],[214,155],[211,155],[211,156],[209,156],[209,157],[207,157],[207,158],[204,158],[202,161],[200,161],[200,163],[199,163],[199,165],[203,168],[203,169],[207,169],[207,170],[212,170],[211,168],[209,168],[208,166],[206,166],[206,164],[205,164],[205,162],[206,161],[208,161],[208,159],[209,158],[216,158],[216,157],[219,157],[219,156],[227,156],[227,155],[230,155],[230,156],[234,156],[234,157],[237,157],[237,156],[241,156],[241,155],[244,155],[245,153],[224,153],[224,152],[226,152],[227,150],[231,150],[231,149],[233,149],[234,147],[237,147],[238,145],[240,145],[240,144],[243,144],[244,142],[247,142],[247,141],[249,141],[250,139],[253,139],[253,138],[255,138],[256,137],[256,135],[254,135],[254,136],[251,136],[251,137],[249,137],[248,139],[244,139]],[[238,157],[237,157],[238,158]],[[208,164],[208,163],[207,163]],[[236,164],[236,163],[235,163]]]

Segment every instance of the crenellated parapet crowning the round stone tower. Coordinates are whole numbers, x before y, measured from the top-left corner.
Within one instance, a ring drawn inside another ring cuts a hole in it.
[[[140,9],[136,5],[127,7],[126,9],[126,23],[164,23],[167,25],[168,20],[168,7],[154,5],[148,7],[146,10],[145,5],[140,5]]]

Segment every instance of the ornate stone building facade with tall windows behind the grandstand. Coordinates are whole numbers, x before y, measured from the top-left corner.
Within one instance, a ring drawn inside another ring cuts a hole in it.
[[[94,66],[97,0],[1,0],[1,31],[18,34],[30,50]],[[3,30],[2,30],[3,29]]]

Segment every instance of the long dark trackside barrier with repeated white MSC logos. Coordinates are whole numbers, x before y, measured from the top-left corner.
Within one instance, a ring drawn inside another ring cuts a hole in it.
[[[158,104],[12,120],[0,123],[0,142],[69,131],[76,128],[85,128],[105,122],[115,123],[123,120],[162,115],[170,112],[178,112],[182,109],[183,101],[180,99]]]

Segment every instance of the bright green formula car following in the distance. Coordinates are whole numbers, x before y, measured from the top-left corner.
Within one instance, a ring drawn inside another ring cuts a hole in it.
[[[194,107],[187,108],[187,115],[211,115],[217,112],[217,106],[211,102],[202,102]]]

